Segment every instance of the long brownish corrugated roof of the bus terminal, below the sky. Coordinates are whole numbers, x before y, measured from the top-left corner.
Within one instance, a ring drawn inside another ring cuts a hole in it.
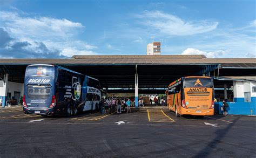
[[[178,58],[180,57],[180,58]],[[200,65],[221,64],[221,67],[255,68],[256,58],[216,58],[204,56],[74,56],[71,59],[0,59],[2,65],[56,64],[56,65],[125,65],[125,64],[166,64]]]

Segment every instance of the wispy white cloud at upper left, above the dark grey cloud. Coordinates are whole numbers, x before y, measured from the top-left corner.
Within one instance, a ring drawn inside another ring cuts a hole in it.
[[[17,12],[0,12],[0,22],[8,28],[10,35],[33,39],[68,38],[84,26],[68,19],[50,17],[22,17]]]

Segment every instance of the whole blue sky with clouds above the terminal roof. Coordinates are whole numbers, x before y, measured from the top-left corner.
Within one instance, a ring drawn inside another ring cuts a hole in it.
[[[256,57],[256,1],[0,1],[0,58]]]

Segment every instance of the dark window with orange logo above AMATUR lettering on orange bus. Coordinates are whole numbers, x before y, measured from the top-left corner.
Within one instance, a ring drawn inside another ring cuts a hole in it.
[[[213,83],[211,78],[185,78],[184,88],[188,88],[188,87],[213,88]]]

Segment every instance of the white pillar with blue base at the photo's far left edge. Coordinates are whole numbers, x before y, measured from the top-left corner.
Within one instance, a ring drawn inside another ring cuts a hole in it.
[[[6,73],[3,76],[3,80],[0,82],[0,99],[2,101],[2,107],[6,106],[6,101],[7,101],[7,90],[8,90],[8,76],[9,74]]]

